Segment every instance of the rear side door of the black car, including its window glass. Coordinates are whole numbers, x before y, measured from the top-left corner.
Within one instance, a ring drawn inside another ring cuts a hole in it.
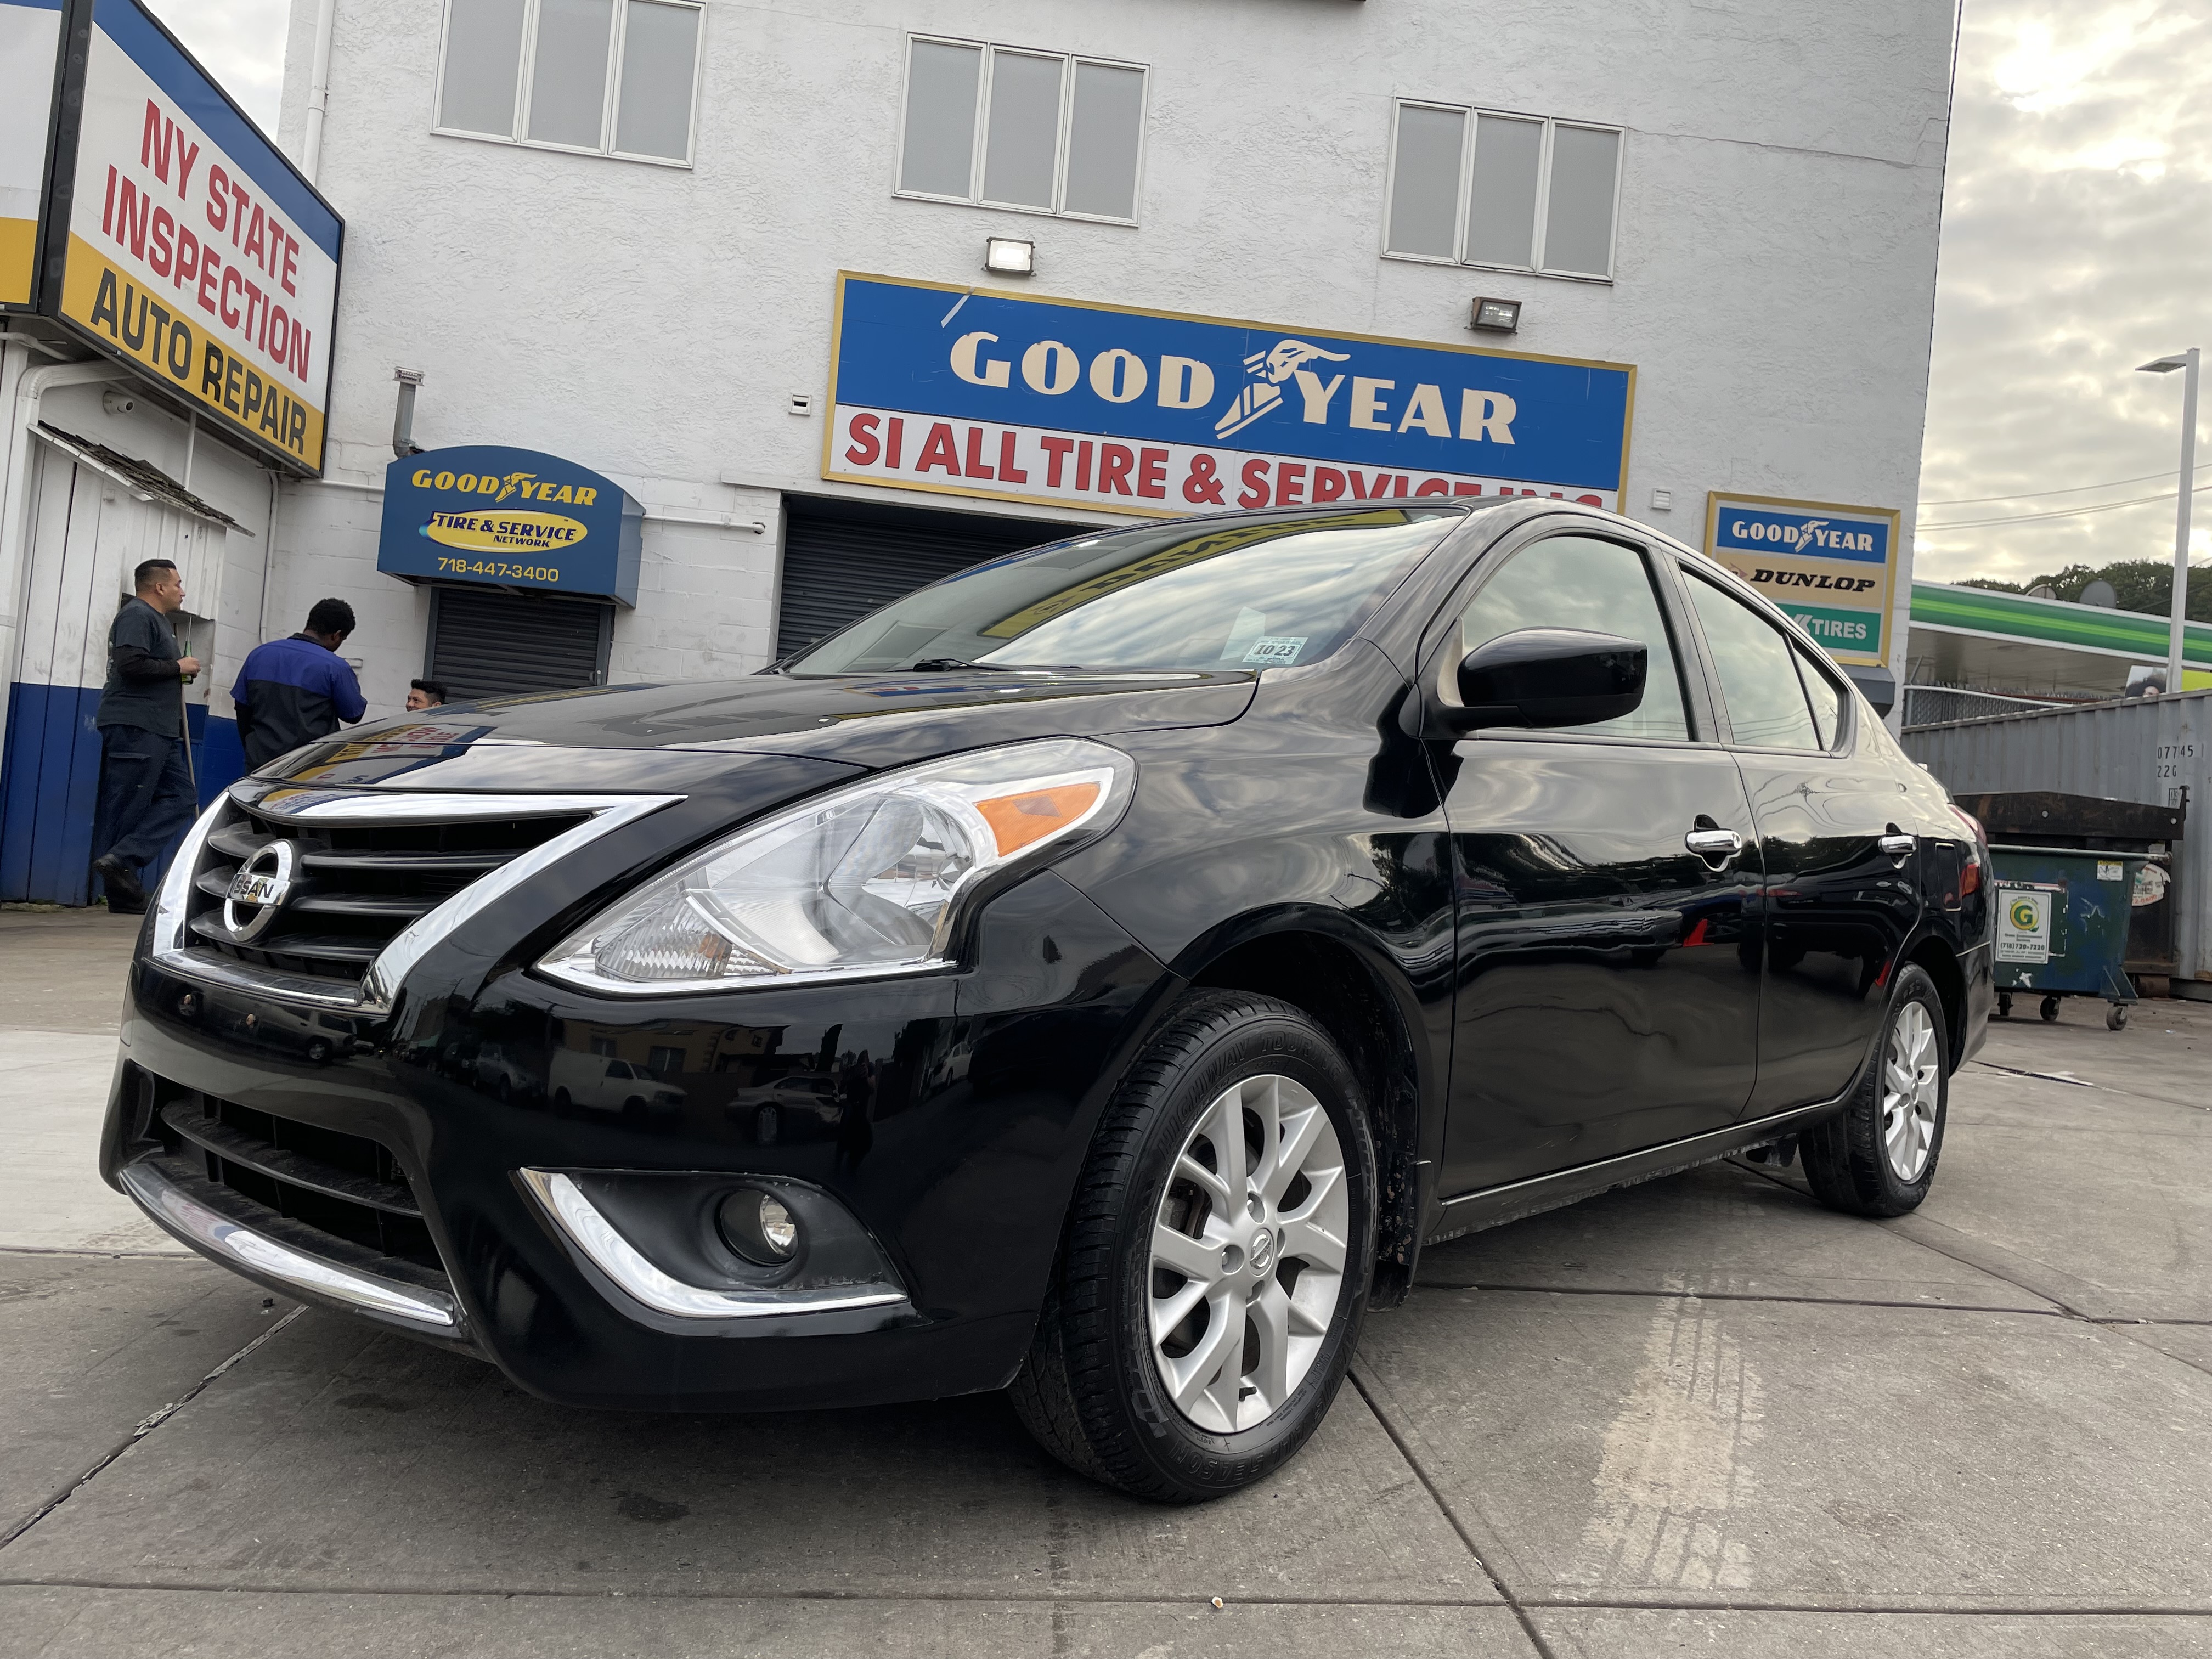
[[[1721,714],[1759,825],[1765,987],[1747,1113],[1843,1093],[1920,916],[1902,785],[1874,763],[1871,721],[1836,670],[1741,595],[1683,573]]]

